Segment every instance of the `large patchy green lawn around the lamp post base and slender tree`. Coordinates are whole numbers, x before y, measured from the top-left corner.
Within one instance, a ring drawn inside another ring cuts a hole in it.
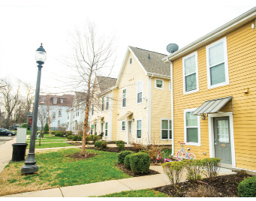
[[[0,175],[0,196],[52,187],[89,184],[99,181],[130,178],[115,166],[117,154],[109,151],[86,150],[96,153],[89,159],[76,159],[72,154],[80,153],[80,148],[61,149],[36,153],[39,172],[21,175],[24,162],[11,162]]]

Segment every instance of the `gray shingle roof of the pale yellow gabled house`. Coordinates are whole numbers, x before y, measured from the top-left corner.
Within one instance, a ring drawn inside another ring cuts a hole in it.
[[[167,55],[134,46],[130,48],[148,73],[170,76],[170,64],[162,61]]]

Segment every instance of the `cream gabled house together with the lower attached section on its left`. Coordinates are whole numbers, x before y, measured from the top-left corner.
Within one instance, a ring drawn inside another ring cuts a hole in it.
[[[164,56],[128,46],[117,80],[96,77],[93,134],[104,132],[106,140],[127,143],[171,144],[170,66],[162,62]]]

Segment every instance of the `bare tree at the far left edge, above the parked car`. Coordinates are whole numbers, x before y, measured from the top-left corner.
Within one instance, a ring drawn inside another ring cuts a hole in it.
[[[2,80],[2,86],[0,88],[0,93],[2,95],[3,101],[2,105],[5,107],[5,112],[7,115],[5,127],[10,127],[14,109],[19,103],[20,98],[20,83],[17,86],[17,89],[14,89],[14,86],[7,79]]]

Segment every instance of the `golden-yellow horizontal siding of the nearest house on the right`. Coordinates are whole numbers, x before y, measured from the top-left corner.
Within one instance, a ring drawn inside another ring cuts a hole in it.
[[[184,141],[183,111],[185,109],[200,107],[204,101],[233,96],[233,134],[236,167],[256,170],[255,163],[252,162],[256,158],[256,31],[251,28],[251,23],[253,22],[247,23],[245,26],[237,28],[235,31],[223,36],[227,37],[229,74],[229,85],[227,86],[208,89],[206,46],[197,49],[199,92],[183,95],[182,58],[173,61],[175,153],[180,148],[177,142]],[[223,37],[218,38],[218,40]],[[245,89],[249,89],[248,94],[244,93]],[[231,101],[221,111],[231,112]],[[209,157],[207,117],[206,120],[200,120],[200,133],[201,146],[189,147],[191,147],[191,152],[196,154],[197,158]],[[203,152],[206,152],[206,155],[203,155]]]

